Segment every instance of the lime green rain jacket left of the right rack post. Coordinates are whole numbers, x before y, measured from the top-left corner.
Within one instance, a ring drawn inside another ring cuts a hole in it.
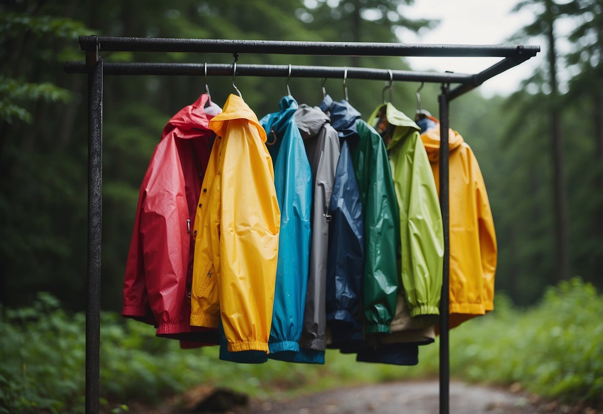
[[[369,119],[390,155],[400,217],[401,287],[410,315],[437,315],[444,234],[434,174],[420,129],[391,103],[377,107]]]

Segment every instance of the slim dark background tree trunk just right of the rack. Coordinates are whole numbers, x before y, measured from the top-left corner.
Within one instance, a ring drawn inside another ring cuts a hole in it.
[[[559,92],[557,86],[557,67],[555,55],[554,18],[552,2],[546,2],[549,21],[549,69],[551,73],[551,129],[553,151],[553,190],[555,194],[555,250],[557,253],[557,279],[569,279],[569,246],[567,243],[567,188],[563,162],[563,136],[559,112]]]

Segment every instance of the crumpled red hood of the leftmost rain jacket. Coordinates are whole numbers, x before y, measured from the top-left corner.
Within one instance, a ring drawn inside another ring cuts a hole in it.
[[[206,105],[208,107],[206,108]],[[194,103],[180,109],[168,121],[163,129],[162,138],[174,129],[180,131],[200,130],[209,131],[209,121],[218,113],[222,112],[220,107],[213,103],[207,94],[201,95]],[[195,138],[194,135],[181,135],[180,138]]]

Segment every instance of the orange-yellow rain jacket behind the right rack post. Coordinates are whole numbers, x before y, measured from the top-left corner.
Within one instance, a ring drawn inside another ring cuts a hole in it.
[[[440,193],[440,123],[421,134]],[[490,203],[473,151],[449,130],[450,328],[494,308],[496,234]]]

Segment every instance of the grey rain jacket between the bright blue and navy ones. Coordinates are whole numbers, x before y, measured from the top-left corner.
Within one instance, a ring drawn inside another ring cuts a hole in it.
[[[308,291],[300,346],[306,351],[324,351],[326,328],[327,252],[329,250],[329,203],[332,199],[339,160],[339,136],[318,107],[300,105],[295,111],[312,168],[312,244]],[[305,352],[306,352],[305,351]],[[324,354],[323,354],[324,355]],[[324,357],[323,357],[324,358]]]

